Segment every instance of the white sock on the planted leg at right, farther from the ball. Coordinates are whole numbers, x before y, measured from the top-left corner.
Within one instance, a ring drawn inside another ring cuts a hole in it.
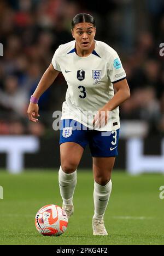
[[[94,183],[93,199],[95,205],[94,219],[103,220],[106,211],[110,193],[112,191],[112,181],[110,180],[105,186]]]

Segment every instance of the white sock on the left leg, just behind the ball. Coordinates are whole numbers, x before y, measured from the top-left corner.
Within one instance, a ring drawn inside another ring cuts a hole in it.
[[[58,183],[63,203],[65,205],[73,204],[73,193],[77,185],[77,170],[71,174],[66,174],[60,166],[58,171]]]

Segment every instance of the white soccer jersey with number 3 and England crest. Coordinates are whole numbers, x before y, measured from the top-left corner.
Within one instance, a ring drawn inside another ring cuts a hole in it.
[[[126,78],[118,54],[108,44],[96,41],[87,57],[75,53],[75,41],[61,44],[52,58],[54,69],[61,71],[68,85],[61,119],[74,119],[93,129],[92,121],[114,96],[113,84]],[[119,129],[119,107],[110,112],[107,125],[99,131]]]

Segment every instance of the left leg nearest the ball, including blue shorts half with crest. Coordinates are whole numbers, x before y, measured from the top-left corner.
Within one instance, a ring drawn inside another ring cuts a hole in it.
[[[67,216],[73,213],[73,194],[77,183],[77,168],[87,144],[86,130],[75,120],[61,120],[60,156],[61,166],[58,172],[63,208]]]

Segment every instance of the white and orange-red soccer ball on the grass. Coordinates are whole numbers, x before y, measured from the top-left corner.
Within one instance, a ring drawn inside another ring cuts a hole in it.
[[[60,236],[67,229],[67,214],[58,205],[45,205],[38,210],[35,225],[43,236]]]

